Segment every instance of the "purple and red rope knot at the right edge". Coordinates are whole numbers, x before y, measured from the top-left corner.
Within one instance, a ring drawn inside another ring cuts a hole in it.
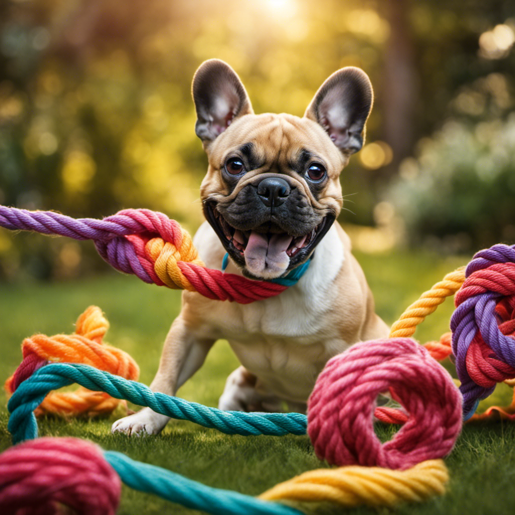
[[[496,383],[515,377],[515,248],[494,245],[478,252],[455,304],[453,353],[468,419]]]

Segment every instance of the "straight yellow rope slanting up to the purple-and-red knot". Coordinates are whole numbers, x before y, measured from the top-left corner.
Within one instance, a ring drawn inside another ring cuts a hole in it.
[[[417,301],[411,304],[394,322],[390,330],[390,338],[410,337],[415,333],[417,325],[431,315],[445,298],[454,295],[465,281],[465,267],[450,272],[440,282],[425,291]]]

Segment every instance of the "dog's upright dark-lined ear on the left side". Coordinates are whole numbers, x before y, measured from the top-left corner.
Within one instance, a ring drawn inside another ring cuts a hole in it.
[[[193,77],[192,95],[197,111],[195,133],[204,147],[224,132],[234,118],[253,113],[242,81],[219,59],[200,65]]]

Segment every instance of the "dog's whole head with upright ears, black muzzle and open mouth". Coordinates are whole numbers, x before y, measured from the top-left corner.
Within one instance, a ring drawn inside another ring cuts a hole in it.
[[[342,68],[304,117],[259,114],[232,68],[212,59],[193,79],[196,133],[209,159],[204,215],[253,279],[285,276],[310,258],[342,206],[339,175],[363,146],[372,87]]]

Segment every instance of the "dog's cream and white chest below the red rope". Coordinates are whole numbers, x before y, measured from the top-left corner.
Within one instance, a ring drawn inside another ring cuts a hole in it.
[[[213,312],[210,324],[268,391],[304,402],[324,364],[346,344],[322,310],[284,300],[235,307],[231,316]]]

